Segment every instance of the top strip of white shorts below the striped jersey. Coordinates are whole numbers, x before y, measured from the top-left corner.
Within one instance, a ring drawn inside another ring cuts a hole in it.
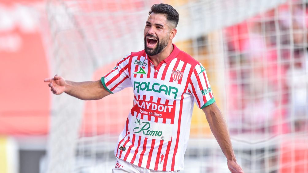
[[[155,171],[144,167],[136,166],[122,159],[116,158],[115,167],[112,173],[178,173],[180,171]]]

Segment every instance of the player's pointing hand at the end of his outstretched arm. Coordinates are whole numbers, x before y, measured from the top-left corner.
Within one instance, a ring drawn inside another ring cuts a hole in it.
[[[53,78],[46,78],[44,82],[49,82],[50,90],[56,95],[62,94],[65,91],[66,82],[61,76],[55,75]]]

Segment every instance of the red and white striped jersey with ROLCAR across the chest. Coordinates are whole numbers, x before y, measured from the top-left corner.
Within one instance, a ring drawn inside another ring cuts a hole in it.
[[[101,78],[111,93],[133,87],[135,94],[115,156],[158,171],[183,169],[194,101],[199,108],[215,102],[201,63],[173,47],[157,67],[142,50]]]

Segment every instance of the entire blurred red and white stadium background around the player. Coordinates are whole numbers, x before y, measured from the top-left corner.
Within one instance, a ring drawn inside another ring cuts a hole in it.
[[[111,172],[132,88],[82,101],[43,79],[103,77],[144,49],[155,3],[179,12],[174,43],[204,65],[245,173],[308,173],[307,0],[2,0],[0,173]],[[229,172],[196,105],[181,172]]]

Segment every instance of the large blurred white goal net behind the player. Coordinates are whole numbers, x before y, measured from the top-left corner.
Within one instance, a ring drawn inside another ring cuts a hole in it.
[[[246,173],[308,173],[308,1],[47,0],[52,73],[98,80],[144,49],[155,3],[180,14],[174,43],[207,70]],[[98,101],[54,96],[46,172],[111,172],[116,139],[133,103],[131,88]],[[195,106],[181,172],[228,172]]]

